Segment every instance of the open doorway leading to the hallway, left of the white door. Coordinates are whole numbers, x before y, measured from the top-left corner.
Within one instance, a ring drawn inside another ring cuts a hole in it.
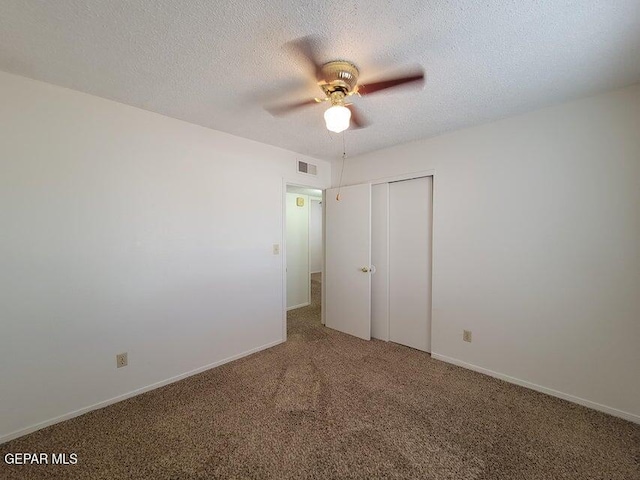
[[[286,334],[321,322],[324,267],[322,191],[287,185],[285,192]]]

